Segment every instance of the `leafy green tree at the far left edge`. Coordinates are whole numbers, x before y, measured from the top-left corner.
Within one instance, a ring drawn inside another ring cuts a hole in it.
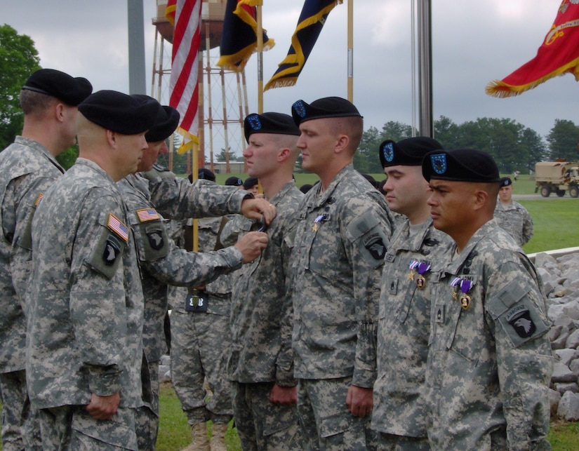
[[[22,131],[24,116],[18,96],[22,86],[40,69],[34,41],[10,25],[0,27],[0,150]]]

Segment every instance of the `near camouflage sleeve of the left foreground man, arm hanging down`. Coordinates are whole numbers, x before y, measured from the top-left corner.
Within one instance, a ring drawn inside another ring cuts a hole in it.
[[[128,243],[107,227],[109,215],[124,218],[109,196],[88,196],[71,253],[70,315],[91,393],[121,391],[126,344],[123,255]]]

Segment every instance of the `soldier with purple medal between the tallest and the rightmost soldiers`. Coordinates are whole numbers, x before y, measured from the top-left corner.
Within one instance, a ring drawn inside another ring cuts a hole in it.
[[[380,450],[429,450],[425,370],[432,278],[447,258],[451,238],[434,229],[422,157],[442,149],[430,137],[380,144],[390,210],[404,217],[386,254],[378,309],[378,377],[372,428]]]

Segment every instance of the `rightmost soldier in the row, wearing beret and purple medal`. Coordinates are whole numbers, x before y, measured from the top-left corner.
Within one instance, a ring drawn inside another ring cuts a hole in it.
[[[426,384],[433,450],[549,450],[550,323],[533,264],[493,220],[498,168],[473,149],[422,161],[452,260],[432,281]]]

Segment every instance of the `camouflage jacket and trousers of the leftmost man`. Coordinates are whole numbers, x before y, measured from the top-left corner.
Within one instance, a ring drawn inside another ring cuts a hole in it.
[[[31,226],[36,201],[64,172],[44,146],[29,138],[17,136],[0,152],[0,393],[5,450],[12,445],[16,450],[41,449],[39,426],[29,411],[24,372],[24,293],[32,264]]]

